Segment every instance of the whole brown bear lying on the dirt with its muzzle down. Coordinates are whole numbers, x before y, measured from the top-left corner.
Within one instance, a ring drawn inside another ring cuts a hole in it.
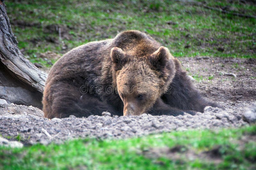
[[[52,67],[44,89],[47,118],[182,115],[215,107],[204,99],[180,62],[149,35],[125,31],[78,46]]]

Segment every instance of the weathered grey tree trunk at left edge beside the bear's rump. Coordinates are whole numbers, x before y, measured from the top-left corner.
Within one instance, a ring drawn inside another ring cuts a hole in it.
[[[20,52],[5,4],[0,0],[0,98],[41,108],[46,77]]]

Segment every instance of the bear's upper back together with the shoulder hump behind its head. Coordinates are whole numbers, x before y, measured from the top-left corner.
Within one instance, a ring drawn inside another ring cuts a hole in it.
[[[134,56],[144,56],[156,51],[160,44],[145,33],[130,30],[117,34],[114,39],[78,46],[53,65],[47,82],[72,80],[78,85],[85,82],[89,85],[100,85],[100,76],[106,74],[104,70],[108,70],[107,74],[111,73],[110,51],[113,47],[119,47]]]

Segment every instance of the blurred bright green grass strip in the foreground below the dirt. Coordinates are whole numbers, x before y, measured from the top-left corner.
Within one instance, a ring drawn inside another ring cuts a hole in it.
[[[61,145],[0,147],[0,169],[254,169],[255,135],[256,125],[252,125],[215,131],[174,131],[125,140],[78,139]],[[154,156],[150,152],[153,148],[168,152],[177,146],[182,146],[178,153]],[[219,148],[219,162],[204,154],[214,148],[215,152]],[[188,154],[191,152],[201,157],[193,158]]]

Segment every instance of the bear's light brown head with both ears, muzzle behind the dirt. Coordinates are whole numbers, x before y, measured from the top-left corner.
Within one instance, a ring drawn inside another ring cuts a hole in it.
[[[110,55],[113,85],[124,102],[124,116],[149,111],[175,75],[174,58],[168,48],[161,46],[153,53],[136,55],[114,47]]]

